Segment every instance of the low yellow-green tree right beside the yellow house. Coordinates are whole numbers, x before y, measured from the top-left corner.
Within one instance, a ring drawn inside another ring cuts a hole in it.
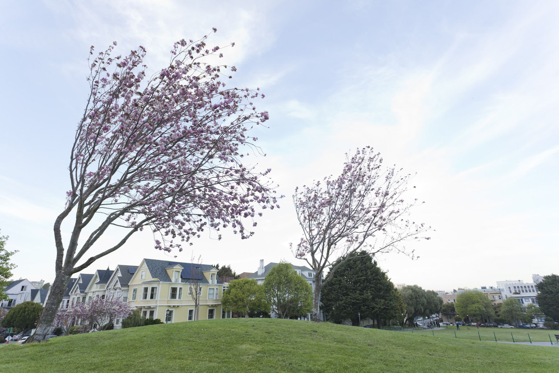
[[[264,294],[264,286],[258,285],[254,278],[239,278],[231,281],[223,294],[221,305],[225,311],[233,311],[244,317],[267,312],[270,309]]]

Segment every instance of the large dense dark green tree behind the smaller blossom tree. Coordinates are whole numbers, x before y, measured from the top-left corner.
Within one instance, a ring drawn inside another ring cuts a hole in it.
[[[340,265],[321,291],[323,310],[329,319],[335,323],[350,319],[354,325],[358,325],[359,317],[375,319],[377,325],[381,320],[401,319],[402,301],[386,273],[365,251],[352,257],[334,262],[333,267]]]

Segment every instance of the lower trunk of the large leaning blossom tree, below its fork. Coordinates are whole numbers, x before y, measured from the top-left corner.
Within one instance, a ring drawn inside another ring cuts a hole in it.
[[[42,310],[37,322],[35,333],[27,339],[27,342],[43,342],[49,340],[50,329],[53,326],[56,312],[60,306],[60,302],[64,297],[64,292],[68,287],[70,276],[60,271],[56,273],[53,285],[50,286],[49,299],[46,300],[45,308]]]

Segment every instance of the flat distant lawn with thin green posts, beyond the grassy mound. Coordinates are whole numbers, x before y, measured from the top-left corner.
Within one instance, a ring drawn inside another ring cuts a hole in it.
[[[470,328],[470,329],[468,329]],[[408,332],[411,333],[411,332]],[[464,339],[477,339],[477,341],[506,341],[506,342],[548,342],[549,337],[551,341],[556,342],[554,334],[559,334],[559,330],[543,330],[543,329],[517,329],[517,328],[479,328],[476,327],[456,327],[450,326],[442,330],[414,330],[414,334],[431,336],[433,337],[448,337],[448,338],[464,338]],[[455,337],[456,333],[456,337]],[[479,335],[477,334],[479,333]],[[494,334],[495,333],[495,334]],[[512,334],[511,334],[512,333]],[[559,369],[557,369],[559,372]]]

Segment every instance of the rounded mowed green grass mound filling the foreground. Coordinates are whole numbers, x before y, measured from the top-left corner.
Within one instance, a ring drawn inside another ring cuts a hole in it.
[[[278,319],[150,325],[0,348],[0,372],[18,373],[534,373],[558,369],[556,347]]]

